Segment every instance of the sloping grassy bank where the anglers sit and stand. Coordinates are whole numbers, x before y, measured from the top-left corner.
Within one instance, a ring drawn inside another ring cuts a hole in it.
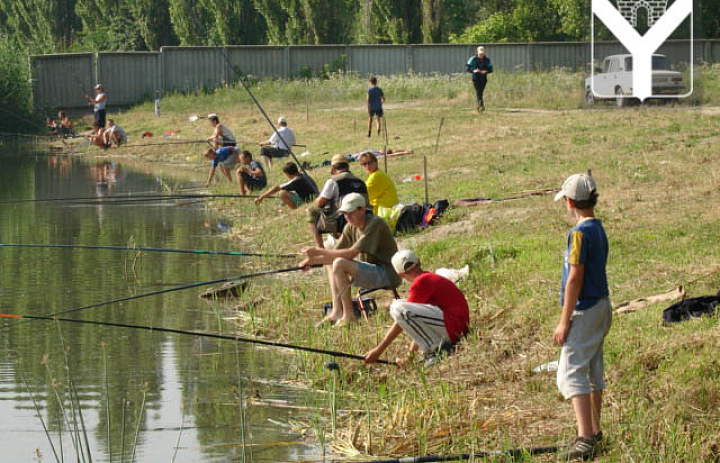
[[[715,89],[703,94],[708,101],[718,90],[717,73],[713,68],[703,75],[705,90]],[[565,85],[557,93],[558,86],[543,85],[555,78],[559,88]],[[515,79],[514,84],[503,79]],[[489,109],[480,116],[472,110],[465,78],[383,79],[380,86],[388,96],[390,147],[415,149],[414,155],[388,162],[401,201],[422,201],[422,183],[403,180],[422,174],[423,156],[431,199],[451,202],[557,188],[570,173],[592,169],[600,192],[597,214],[610,240],[608,276],[615,303],[679,285],[689,296],[720,289],[716,108],[580,110],[581,86],[561,73],[492,76]],[[333,153],[384,144],[375,136],[365,138],[365,88],[364,81],[338,78],[262,82],[253,91],[273,120],[288,117],[298,142],[307,144],[309,156],[302,159],[316,163]],[[568,89],[577,95],[568,98]],[[209,125],[188,117],[208,112],[217,112],[240,140],[270,135],[240,89],[168,97],[160,118],[142,105],[117,120],[131,143],[144,131],[168,129],[197,138],[210,133]],[[258,154],[256,146],[251,151]],[[199,146],[148,147],[111,156],[187,165],[202,179],[208,165],[200,152]],[[352,170],[361,173],[357,164]],[[319,184],[329,175],[327,168],[311,173]],[[271,183],[282,178],[279,168],[270,172]],[[235,192],[237,187],[223,180],[211,189]],[[231,235],[240,249],[300,251],[311,244],[304,210],[288,211],[274,201],[255,206],[228,200],[214,206],[234,217]],[[537,196],[452,208],[438,226],[401,237],[401,247],[416,250],[429,270],[470,266],[470,276],[460,283],[471,307],[470,334],[456,355],[430,370],[340,362],[340,372],[334,373],[323,367],[327,358],[299,356],[297,379],[332,392],[326,413],[302,426],[348,456],[550,445],[570,438],[573,414],[559,398],[554,374],[532,369],[558,356],[552,333],[571,225],[562,204]],[[407,285],[401,289],[406,294]],[[374,347],[391,324],[384,310],[388,296],[378,295],[381,310],[369,322],[315,329],[329,294],[319,270],[254,281],[240,301],[243,316],[228,329],[357,354]],[[605,344],[603,422],[610,441],[605,461],[720,458],[719,318],[665,327],[661,313],[669,304],[651,304],[613,321]],[[405,339],[396,341],[386,357],[405,347]]]

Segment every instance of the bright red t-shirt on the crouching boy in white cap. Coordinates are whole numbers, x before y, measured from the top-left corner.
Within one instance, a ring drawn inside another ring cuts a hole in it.
[[[408,302],[440,307],[448,336],[453,343],[467,333],[470,311],[465,295],[455,283],[430,272],[423,272],[410,285]]]

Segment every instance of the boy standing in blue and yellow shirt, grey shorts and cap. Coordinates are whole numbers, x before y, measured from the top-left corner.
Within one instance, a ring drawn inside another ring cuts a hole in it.
[[[591,459],[602,449],[600,410],[603,343],[612,323],[605,265],[608,241],[595,218],[597,190],[592,177],[568,177],[555,201],[565,199],[577,225],[568,233],[562,277],[562,313],[553,339],[562,346],[557,385],[572,399],[578,435],[559,456],[562,460]]]

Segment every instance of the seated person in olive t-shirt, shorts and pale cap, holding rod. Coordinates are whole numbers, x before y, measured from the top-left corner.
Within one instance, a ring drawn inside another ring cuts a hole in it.
[[[345,326],[355,321],[350,285],[394,289],[401,280],[391,263],[397,252],[395,238],[387,223],[367,210],[365,197],[359,193],[346,195],[339,211],[348,222],[340,241],[334,249],[305,248],[307,258],[300,266],[328,266],[333,308],[320,324],[337,322],[335,326]]]

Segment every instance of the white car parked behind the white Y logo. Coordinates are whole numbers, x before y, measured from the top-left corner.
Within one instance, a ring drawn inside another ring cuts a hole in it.
[[[595,100],[614,99],[618,106],[625,106],[632,98],[632,55],[611,55],[603,61],[602,69],[585,79],[585,103]],[[671,71],[665,55],[652,57],[652,94],[679,95],[685,89],[683,75]],[[594,80],[594,82],[593,82]]]

